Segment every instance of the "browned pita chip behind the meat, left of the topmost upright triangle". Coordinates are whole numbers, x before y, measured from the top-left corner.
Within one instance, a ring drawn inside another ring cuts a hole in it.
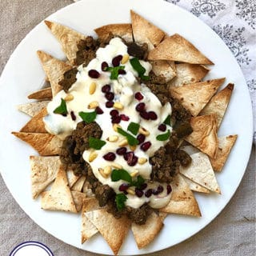
[[[110,34],[113,34],[115,37],[123,38],[126,42],[134,41],[131,24],[109,24],[98,27],[94,31],[98,34],[98,37],[103,40],[108,38]]]

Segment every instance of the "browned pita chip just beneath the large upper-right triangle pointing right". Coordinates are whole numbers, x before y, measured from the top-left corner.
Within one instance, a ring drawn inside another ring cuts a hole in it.
[[[206,66],[189,63],[176,64],[176,77],[169,83],[169,86],[182,86],[188,83],[200,82],[206,76],[209,69]]]

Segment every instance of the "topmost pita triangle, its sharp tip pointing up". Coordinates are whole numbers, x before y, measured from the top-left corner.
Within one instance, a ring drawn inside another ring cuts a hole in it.
[[[146,42],[149,50],[154,49],[155,46],[162,41],[165,37],[165,32],[154,26],[151,22],[147,21],[142,16],[130,10],[131,25],[133,28],[134,40],[138,44]]]

